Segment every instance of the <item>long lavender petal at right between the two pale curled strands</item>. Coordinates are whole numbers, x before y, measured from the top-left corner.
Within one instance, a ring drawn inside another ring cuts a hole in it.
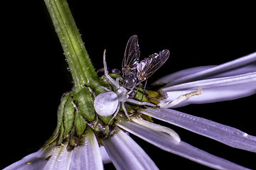
[[[146,108],[142,110],[141,113],[217,140],[230,147],[256,152],[255,136],[248,135],[245,132],[227,125],[174,111],[169,108]]]

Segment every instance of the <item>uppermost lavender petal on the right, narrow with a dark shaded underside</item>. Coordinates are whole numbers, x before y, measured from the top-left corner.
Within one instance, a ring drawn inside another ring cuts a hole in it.
[[[154,82],[154,86],[173,86],[183,84],[190,81],[200,79],[210,79],[213,77],[233,76],[235,74],[245,74],[247,72],[255,72],[256,69],[256,52],[240,57],[237,60],[226,62],[218,66],[203,66],[194,67],[191,69],[181,70],[174,74],[169,74],[166,77]]]

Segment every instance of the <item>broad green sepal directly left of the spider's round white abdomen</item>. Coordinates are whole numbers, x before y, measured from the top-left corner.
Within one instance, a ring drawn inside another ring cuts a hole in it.
[[[84,116],[88,121],[95,119],[95,108],[93,106],[92,93],[88,87],[84,87],[73,95],[75,106],[78,108],[79,113]]]

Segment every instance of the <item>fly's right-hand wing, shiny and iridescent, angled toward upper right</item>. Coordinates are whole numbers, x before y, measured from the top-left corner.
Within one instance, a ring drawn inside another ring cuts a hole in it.
[[[169,50],[163,50],[159,52],[159,54],[154,53],[142,60],[142,62],[139,62],[137,65],[137,79],[139,83],[151,77],[151,75],[166,62],[169,55]]]

